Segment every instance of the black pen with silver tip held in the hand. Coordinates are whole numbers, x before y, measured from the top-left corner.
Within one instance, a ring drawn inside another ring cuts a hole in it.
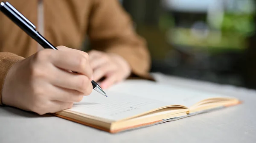
[[[33,39],[35,39],[35,41],[37,41],[43,48],[58,50],[35,29],[36,27],[32,22],[30,22],[19,11],[17,11],[17,9],[14,8],[10,3],[1,2],[0,11],[2,11],[3,14],[9,17],[9,19],[12,20],[16,25],[18,25],[23,31],[25,31],[26,34],[28,34]],[[102,88],[95,81],[91,81],[91,82],[93,84],[94,90],[108,97],[107,94],[102,90]]]

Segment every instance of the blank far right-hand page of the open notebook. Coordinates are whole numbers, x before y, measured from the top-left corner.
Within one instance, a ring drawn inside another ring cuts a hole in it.
[[[191,107],[198,101],[207,98],[228,97],[226,95],[159,84],[157,82],[146,80],[127,80],[114,85],[106,92],[119,92],[120,95],[129,94],[141,98],[167,102],[169,105],[179,104],[186,107]]]

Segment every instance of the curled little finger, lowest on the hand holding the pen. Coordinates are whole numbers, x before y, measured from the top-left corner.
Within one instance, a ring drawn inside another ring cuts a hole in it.
[[[72,106],[73,106],[72,102],[52,101],[52,104],[50,106],[51,108],[49,109],[49,111],[51,113],[60,112],[65,109],[70,109],[72,108]]]

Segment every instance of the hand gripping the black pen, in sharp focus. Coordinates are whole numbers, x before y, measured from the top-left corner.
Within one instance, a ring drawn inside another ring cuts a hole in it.
[[[11,67],[3,85],[3,104],[43,115],[69,109],[92,92],[88,54],[57,48],[41,50]]]

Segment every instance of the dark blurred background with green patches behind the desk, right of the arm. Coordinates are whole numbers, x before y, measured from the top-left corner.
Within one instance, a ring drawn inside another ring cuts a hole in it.
[[[256,89],[256,0],[120,0],[151,72]]]

